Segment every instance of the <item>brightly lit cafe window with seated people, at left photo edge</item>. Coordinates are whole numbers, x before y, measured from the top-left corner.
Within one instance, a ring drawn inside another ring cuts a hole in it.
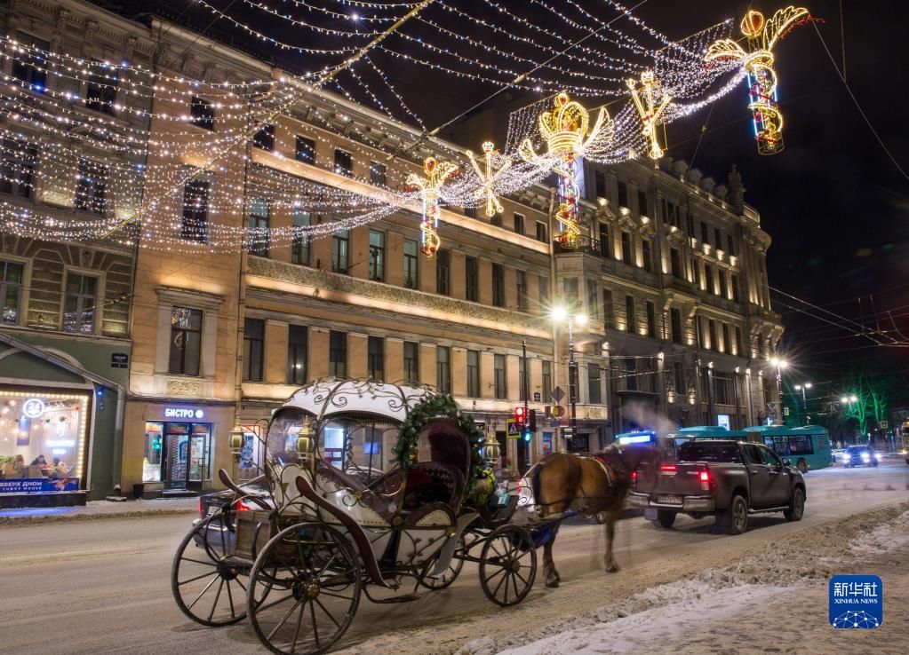
[[[0,493],[76,491],[84,475],[91,392],[0,392]]]

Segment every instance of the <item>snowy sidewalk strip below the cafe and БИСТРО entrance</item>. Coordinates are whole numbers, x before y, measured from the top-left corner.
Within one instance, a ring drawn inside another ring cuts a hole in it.
[[[191,514],[198,511],[198,498],[156,498],[151,501],[125,502],[89,501],[85,503],[85,507],[26,507],[0,510],[0,526],[95,519],[132,519],[163,514]]]

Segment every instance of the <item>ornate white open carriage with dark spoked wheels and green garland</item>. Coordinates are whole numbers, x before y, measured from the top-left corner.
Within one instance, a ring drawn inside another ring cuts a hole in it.
[[[269,422],[265,495],[219,471],[235,495],[181,543],[175,600],[208,626],[248,616],[280,653],[324,652],[362,595],[416,600],[464,561],[489,600],[514,605],[534,584],[539,543],[511,522],[517,496],[495,492],[497,457],[497,442],[430,387],[313,382]]]

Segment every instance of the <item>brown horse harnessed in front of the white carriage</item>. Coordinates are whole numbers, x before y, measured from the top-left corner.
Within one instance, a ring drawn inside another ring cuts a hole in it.
[[[607,573],[618,571],[613,557],[615,521],[622,514],[625,496],[631,488],[632,473],[644,467],[655,471],[660,452],[650,444],[631,444],[623,448],[613,444],[604,452],[573,455],[555,452],[544,457],[529,473],[534,489],[534,502],[539,517],[557,519],[565,511],[577,511],[585,516],[599,514],[603,521],[606,552],[603,565]],[[543,571],[547,587],[558,587],[558,571],[553,561],[553,543],[557,524],[551,538],[544,542]]]

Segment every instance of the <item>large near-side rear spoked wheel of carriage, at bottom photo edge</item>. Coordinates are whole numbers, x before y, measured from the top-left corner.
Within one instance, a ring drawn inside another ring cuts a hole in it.
[[[260,589],[270,591],[264,602]],[[344,635],[360,603],[360,565],[345,536],[325,523],[279,532],[255,561],[246,610],[276,653],[322,653]]]

